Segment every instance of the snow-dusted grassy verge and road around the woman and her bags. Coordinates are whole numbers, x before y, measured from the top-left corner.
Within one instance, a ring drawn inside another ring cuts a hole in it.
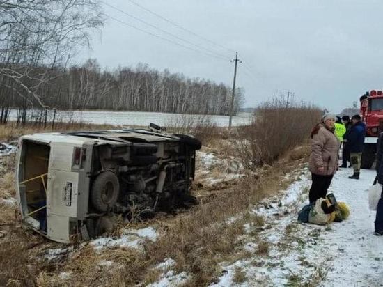
[[[265,218],[258,236],[249,234],[244,243],[253,255],[221,263],[224,272],[213,286],[383,286],[383,237],[373,235],[375,212],[368,210],[375,171],[362,170],[360,180],[347,178],[351,169],[336,173],[329,191],[349,205],[351,215],[328,226],[297,223],[297,211],[308,201],[310,180],[304,173],[280,201],[269,199],[253,209]],[[251,233],[254,227],[246,225]],[[261,243],[268,246],[266,254],[259,254]],[[235,281],[238,270],[242,281]]]

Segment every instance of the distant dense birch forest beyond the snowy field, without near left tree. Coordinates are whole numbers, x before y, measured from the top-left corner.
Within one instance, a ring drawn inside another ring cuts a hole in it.
[[[223,114],[230,112],[232,90],[205,79],[190,79],[168,70],[159,72],[139,64],[136,68],[102,70],[95,59],[68,69],[36,69],[49,75],[36,93],[45,107],[53,109],[111,109],[161,111],[181,114]],[[33,79],[28,83],[33,85]],[[36,83],[37,84],[37,83]],[[3,106],[31,109],[38,100],[25,101],[6,87],[0,91]],[[235,93],[235,111],[242,102],[240,88]],[[8,99],[8,100],[7,100]]]

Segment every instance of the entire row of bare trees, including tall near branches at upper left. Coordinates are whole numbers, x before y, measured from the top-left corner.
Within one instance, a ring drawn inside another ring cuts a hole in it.
[[[3,0],[0,19],[0,123],[8,121],[11,109],[20,123],[34,109],[40,122],[50,111],[73,109],[230,112],[231,88],[225,84],[143,64],[102,70],[89,59],[68,66],[76,48],[88,45],[103,24],[99,1]],[[235,112],[242,101],[237,88]]]

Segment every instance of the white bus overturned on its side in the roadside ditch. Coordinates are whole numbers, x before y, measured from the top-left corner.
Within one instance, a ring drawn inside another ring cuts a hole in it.
[[[150,218],[196,203],[190,185],[201,142],[151,127],[21,137],[16,190],[24,222],[71,242],[111,230],[116,215]]]

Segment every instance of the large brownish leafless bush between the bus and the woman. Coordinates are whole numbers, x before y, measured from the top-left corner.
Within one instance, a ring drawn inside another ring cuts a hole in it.
[[[309,139],[321,110],[281,95],[256,109],[253,122],[238,130],[237,156],[247,169],[272,164],[288,150]]]

